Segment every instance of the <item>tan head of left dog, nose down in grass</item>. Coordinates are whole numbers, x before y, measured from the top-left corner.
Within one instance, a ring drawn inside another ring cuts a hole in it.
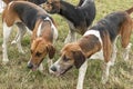
[[[37,38],[31,43],[31,58],[28,62],[28,68],[37,70],[42,60],[49,55],[49,58],[52,59],[55,53],[55,49],[43,38]]]

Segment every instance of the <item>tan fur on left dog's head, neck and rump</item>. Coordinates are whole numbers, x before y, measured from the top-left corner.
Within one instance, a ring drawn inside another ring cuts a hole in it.
[[[12,27],[17,22],[23,22],[20,20],[21,18],[19,18],[19,14],[16,12],[16,10],[13,10],[14,4],[18,4],[18,3],[29,4],[32,8],[37,9],[38,14],[40,14],[39,18],[37,16],[37,21],[35,21],[35,24],[33,26],[34,28],[30,29],[33,31],[31,36],[31,61],[30,62],[32,62],[34,67],[38,67],[41,63],[42,59],[45,58],[47,55],[49,55],[49,58],[52,59],[55,53],[55,49],[53,47],[53,40],[55,40],[53,37],[54,36],[53,30],[54,31],[57,30],[54,28],[54,21],[51,17],[48,16],[45,11],[43,11],[43,9],[39,8],[38,6],[27,1],[16,1],[16,2],[9,3],[6,7],[2,14],[2,21],[6,22],[8,27]],[[45,18],[40,18],[42,14],[45,16],[48,20],[45,20]],[[38,30],[39,30],[39,36],[37,34]]]

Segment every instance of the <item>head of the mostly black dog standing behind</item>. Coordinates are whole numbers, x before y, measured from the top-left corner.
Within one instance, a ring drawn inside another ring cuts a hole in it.
[[[47,0],[43,8],[49,12],[49,13],[58,13],[60,12],[60,0]]]

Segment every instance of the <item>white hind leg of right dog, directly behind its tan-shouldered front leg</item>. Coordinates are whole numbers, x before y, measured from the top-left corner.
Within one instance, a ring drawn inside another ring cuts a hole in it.
[[[115,59],[116,59],[116,52],[117,52],[116,40],[117,40],[117,37],[112,44],[112,56],[111,56],[111,65],[112,66],[114,66],[114,62],[115,62]]]

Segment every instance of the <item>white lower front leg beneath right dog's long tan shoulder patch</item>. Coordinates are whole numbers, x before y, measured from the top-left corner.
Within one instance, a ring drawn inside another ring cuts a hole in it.
[[[108,79],[109,79],[109,71],[110,71],[110,67],[111,67],[112,62],[104,62],[104,67],[103,67],[103,75],[102,75],[102,83],[106,83]]]

